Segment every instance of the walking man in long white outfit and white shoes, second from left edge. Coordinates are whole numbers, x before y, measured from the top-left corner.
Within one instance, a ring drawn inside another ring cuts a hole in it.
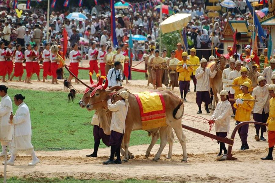
[[[18,109],[14,116],[11,114],[9,117],[9,123],[13,125],[14,132],[10,143],[11,157],[9,161],[7,161],[8,165],[14,165],[15,157],[19,151],[31,155],[32,162],[28,164],[29,166],[40,163],[31,144],[31,117],[29,108],[25,104],[24,99],[25,97],[21,94],[16,94],[14,96],[14,103],[18,106]],[[2,164],[4,164],[4,162],[2,162]]]

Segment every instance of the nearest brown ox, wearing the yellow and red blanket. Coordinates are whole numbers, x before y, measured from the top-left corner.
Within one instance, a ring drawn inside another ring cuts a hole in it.
[[[181,118],[183,116],[183,102],[178,96],[172,94],[170,91],[159,91],[159,90],[157,91],[163,95],[163,98],[165,101],[166,124],[168,126],[147,130],[151,134],[157,134],[158,131],[160,133],[160,148],[156,153],[156,156],[153,158],[153,160],[157,161],[160,158],[160,154],[163,151],[168,141],[167,134],[169,134],[169,131],[171,129],[169,127],[172,127],[179,139],[179,142],[182,145],[182,154],[183,154],[182,161],[187,161],[185,135],[183,134],[182,126],[181,126],[182,124]],[[87,105],[87,109],[94,110],[102,106],[107,106],[107,100],[109,98],[109,93],[111,92],[112,91],[108,91],[108,90],[106,91],[104,89],[97,90],[95,92],[95,95],[90,98],[89,104]],[[129,94],[128,101],[129,101],[130,107],[128,108],[128,113],[125,121],[126,127],[125,127],[125,133],[123,138],[124,149],[125,149],[124,161],[128,160],[128,148],[130,143],[131,132],[133,130],[141,130],[141,127],[142,127],[139,106],[134,94],[132,93]],[[181,109],[181,108],[182,110],[178,111],[178,109]],[[148,155],[147,152],[146,152],[146,155]]]

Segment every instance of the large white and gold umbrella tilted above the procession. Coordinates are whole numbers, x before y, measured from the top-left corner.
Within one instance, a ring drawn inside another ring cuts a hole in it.
[[[190,13],[177,13],[169,16],[162,23],[160,23],[160,30],[162,33],[173,32],[181,30],[191,20]]]

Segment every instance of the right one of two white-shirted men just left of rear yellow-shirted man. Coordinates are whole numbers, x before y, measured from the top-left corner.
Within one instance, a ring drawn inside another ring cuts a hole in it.
[[[232,70],[229,72],[228,74],[228,79],[227,79],[227,83],[228,84],[232,84],[234,79],[236,79],[237,77],[240,77],[240,69],[241,69],[242,65],[241,65],[241,62],[239,60],[237,60],[235,62],[235,70]],[[229,99],[234,99],[235,98],[235,90],[230,87],[230,92],[229,92]],[[232,111],[233,111],[233,116],[232,117],[235,117],[235,112],[236,112],[236,109],[234,108],[234,101],[230,101],[231,103],[231,107],[232,107]]]

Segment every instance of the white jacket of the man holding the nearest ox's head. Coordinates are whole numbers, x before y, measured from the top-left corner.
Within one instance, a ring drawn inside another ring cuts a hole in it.
[[[111,99],[109,99],[107,104],[108,109],[113,112],[110,131],[116,131],[124,134],[128,106],[126,106],[124,100],[119,100],[112,104]]]

